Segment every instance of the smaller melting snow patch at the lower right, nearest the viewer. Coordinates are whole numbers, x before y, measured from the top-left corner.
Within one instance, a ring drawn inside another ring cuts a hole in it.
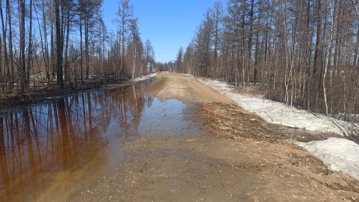
[[[359,145],[343,138],[324,141],[293,142],[316,155],[331,170],[348,173],[359,180]]]

